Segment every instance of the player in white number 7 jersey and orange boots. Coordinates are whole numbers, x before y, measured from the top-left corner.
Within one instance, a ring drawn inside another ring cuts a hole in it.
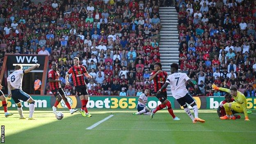
[[[171,64],[171,75],[168,76],[165,85],[161,87],[161,89],[157,92],[160,93],[163,89],[166,89],[166,87],[171,84],[171,93],[172,96],[178,101],[178,103],[183,106],[185,112],[187,115],[192,119],[193,123],[197,123],[197,121],[204,123],[205,120],[200,119],[198,117],[198,108],[196,101],[192,98],[190,93],[186,89],[185,82],[188,82],[193,88],[194,84],[190,80],[190,78],[187,76],[186,73],[179,73],[178,72],[178,64],[173,63]],[[190,112],[190,109],[187,107],[187,104],[190,105],[193,108],[194,111],[194,117]]]

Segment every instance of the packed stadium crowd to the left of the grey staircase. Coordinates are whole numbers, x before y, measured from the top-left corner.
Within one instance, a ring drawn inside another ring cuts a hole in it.
[[[93,76],[89,95],[139,96],[153,88],[149,75],[160,62],[159,7],[157,0],[3,0],[1,66],[6,53],[49,55],[49,69],[58,64],[66,95],[74,95],[64,77],[79,57]]]

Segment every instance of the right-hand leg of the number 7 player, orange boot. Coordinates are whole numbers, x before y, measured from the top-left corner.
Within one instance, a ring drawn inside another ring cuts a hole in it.
[[[191,96],[189,93],[187,93],[183,98],[184,98],[184,101],[185,101],[188,105],[190,105],[190,106],[192,107],[192,109],[193,109],[193,111],[194,111],[194,120],[195,120],[195,121],[199,121],[199,122],[201,122],[201,123],[204,123],[205,120],[200,119],[200,118],[198,117],[198,107],[197,107],[197,103],[196,103],[196,101],[194,100],[194,98],[192,98],[192,96]]]

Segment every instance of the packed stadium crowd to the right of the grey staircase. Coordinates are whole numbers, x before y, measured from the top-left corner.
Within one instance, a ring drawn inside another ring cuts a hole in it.
[[[178,0],[179,65],[193,96],[224,96],[211,85],[256,96],[256,1]]]

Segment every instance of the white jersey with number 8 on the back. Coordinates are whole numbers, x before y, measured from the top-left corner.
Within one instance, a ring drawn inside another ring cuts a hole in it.
[[[15,89],[22,89],[22,79],[24,73],[24,70],[14,71],[8,76],[7,82],[10,82],[11,87],[14,87]]]

